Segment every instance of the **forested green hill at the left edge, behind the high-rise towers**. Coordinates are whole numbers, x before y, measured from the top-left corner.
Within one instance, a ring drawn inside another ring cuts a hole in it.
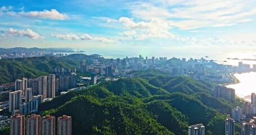
[[[65,57],[26,57],[0,60],[0,84],[14,82],[16,79],[36,78],[48,75],[52,68],[77,68],[81,60],[100,59],[97,55],[73,54]]]

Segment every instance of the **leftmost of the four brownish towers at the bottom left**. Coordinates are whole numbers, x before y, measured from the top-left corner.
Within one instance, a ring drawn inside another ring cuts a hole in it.
[[[11,116],[11,135],[25,135],[25,116],[16,113]]]

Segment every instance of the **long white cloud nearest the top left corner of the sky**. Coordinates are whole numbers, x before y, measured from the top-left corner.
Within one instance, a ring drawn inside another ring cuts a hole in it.
[[[9,16],[23,16],[23,17],[32,17],[32,18],[39,18],[39,19],[52,19],[52,20],[65,20],[69,19],[69,16],[66,13],[60,13],[59,11],[52,9],[52,10],[43,10],[43,11],[21,11],[15,12],[12,11],[12,7],[1,7],[0,8],[0,15],[9,15]]]

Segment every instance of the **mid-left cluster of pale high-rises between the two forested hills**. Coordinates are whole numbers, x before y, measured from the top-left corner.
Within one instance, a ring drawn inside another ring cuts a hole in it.
[[[55,68],[52,74],[35,79],[15,81],[15,91],[9,93],[9,112],[37,113],[38,105],[59,95],[61,91],[77,87],[75,69]]]

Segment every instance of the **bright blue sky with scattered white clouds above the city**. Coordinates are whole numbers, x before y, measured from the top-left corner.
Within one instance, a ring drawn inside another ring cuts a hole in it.
[[[255,0],[0,0],[0,47],[254,52],[255,19]]]

